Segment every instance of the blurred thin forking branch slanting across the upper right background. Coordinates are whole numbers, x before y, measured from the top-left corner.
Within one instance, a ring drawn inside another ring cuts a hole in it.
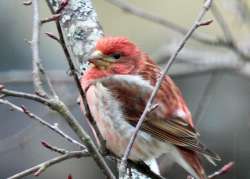
[[[163,27],[169,28],[175,32],[178,32],[180,34],[186,34],[187,29],[175,24],[165,18],[162,18],[160,16],[156,16],[154,14],[151,14],[149,12],[144,11],[143,9],[140,9],[138,7],[135,7],[125,1],[122,0],[106,0],[110,2],[111,4],[117,6],[118,8],[124,10],[125,12],[128,12],[130,14],[133,14],[135,16],[144,18],[146,20],[152,21],[154,23],[160,24]],[[236,53],[240,58],[243,60],[249,61],[250,56],[244,51],[238,47],[235,41],[233,41],[233,37],[230,33],[230,30],[225,23],[225,20],[223,16],[220,14],[220,12],[217,10],[216,7],[213,7],[213,15],[215,16],[216,20],[219,23],[219,26],[222,28],[222,31],[224,35],[226,36],[226,39],[224,40],[222,37],[208,37],[208,35],[201,34],[201,33],[194,33],[192,35],[192,39],[196,40],[197,42],[200,42],[205,45],[213,46],[213,47],[223,47],[225,49],[229,49]],[[222,21],[221,21],[222,20]]]

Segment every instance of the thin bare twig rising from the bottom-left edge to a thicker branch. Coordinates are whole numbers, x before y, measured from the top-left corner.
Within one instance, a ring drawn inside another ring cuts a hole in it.
[[[17,179],[17,178],[22,178],[24,176],[28,176],[31,174],[34,174],[35,176],[39,175],[41,172],[46,170],[52,165],[55,165],[57,163],[60,163],[64,160],[72,159],[72,158],[81,158],[81,157],[88,157],[89,153],[87,151],[71,151],[67,154],[52,158],[48,161],[45,161],[41,164],[38,164],[32,168],[29,168],[27,170],[24,170],[16,175],[13,175],[11,177],[8,177],[7,179]]]

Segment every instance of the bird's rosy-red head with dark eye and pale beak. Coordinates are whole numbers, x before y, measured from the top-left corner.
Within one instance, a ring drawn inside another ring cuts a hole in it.
[[[97,41],[89,62],[96,71],[112,74],[132,74],[140,61],[141,52],[125,37],[104,37]]]

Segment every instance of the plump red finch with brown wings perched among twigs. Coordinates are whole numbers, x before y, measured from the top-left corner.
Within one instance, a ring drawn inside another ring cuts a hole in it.
[[[122,157],[161,69],[122,36],[100,38],[88,61],[80,83],[90,113],[107,149]],[[193,177],[208,178],[201,156],[213,164],[221,159],[200,142],[191,112],[170,76],[165,75],[153,103],[157,107],[147,114],[128,158],[148,161],[166,154]]]

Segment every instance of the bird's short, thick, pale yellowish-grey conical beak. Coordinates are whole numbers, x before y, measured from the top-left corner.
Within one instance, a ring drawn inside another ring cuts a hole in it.
[[[110,62],[107,60],[106,55],[104,55],[101,51],[96,50],[94,51],[88,60],[90,63],[94,64],[98,68],[106,69]]]

